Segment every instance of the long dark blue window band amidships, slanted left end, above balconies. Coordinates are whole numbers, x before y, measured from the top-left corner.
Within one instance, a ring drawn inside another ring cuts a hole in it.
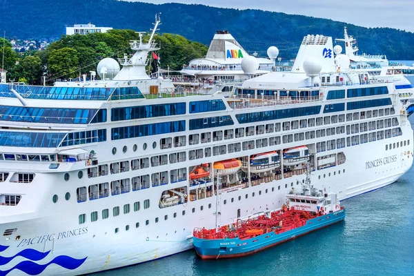
[[[293,117],[309,116],[319,114],[321,106],[307,106],[304,108],[289,108],[282,110],[269,110],[263,112],[252,112],[237,114],[239,124],[248,124],[256,121],[270,121],[276,119],[286,119]]]

